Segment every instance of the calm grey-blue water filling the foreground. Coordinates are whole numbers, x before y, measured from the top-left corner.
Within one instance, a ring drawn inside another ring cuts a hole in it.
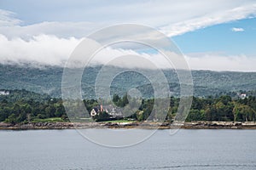
[[[113,149],[75,130],[0,131],[0,169],[256,169],[256,130],[168,132]]]

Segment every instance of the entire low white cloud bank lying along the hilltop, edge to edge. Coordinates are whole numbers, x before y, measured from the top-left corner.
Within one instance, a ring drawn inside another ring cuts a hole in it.
[[[0,35],[0,63],[30,63],[63,66],[73,49],[81,42],[78,38],[59,38],[39,35],[25,41],[21,38],[8,39]],[[104,48],[96,54],[92,64],[106,64],[122,55],[141,56],[140,62],[134,60],[130,65],[124,62],[113,62],[116,66],[142,67],[143,59],[150,60],[160,68],[170,68],[161,54],[138,54],[133,50]],[[173,57],[175,58],[175,57]],[[223,54],[188,54],[185,56],[192,70],[212,71],[256,71],[256,59],[246,55],[227,56]],[[172,67],[173,68],[173,67]]]

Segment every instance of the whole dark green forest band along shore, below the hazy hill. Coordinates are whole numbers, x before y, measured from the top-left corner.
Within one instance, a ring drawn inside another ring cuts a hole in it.
[[[166,121],[172,122],[176,116],[179,99],[171,97]],[[128,104],[127,95],[119,97],[113,95],[113,103],[120,107]],[[96,99],[84,99],[84,105],[90,112],[99,105]],[[138,111],[125,118],[144,121],[150,115],[154,99],[142,99]],[[102,117],[101,117],[102,116]],[[67,114],[62,99],[50,98],[47,94],[41,95],[26,90],[10,90],[9,95],[0,95],[0,122],[27,123],[43,122],[49,118],[56,118],[58,122],[67,122]],[[106,113],[99,113],[96,117],[104,121],[109,118]],[[230,121],[254,122],[256,118],[256,98],[248,96],[245,99],[231,98],[223,95],[217,98],[194,97],[186,122],[192,121]]]

